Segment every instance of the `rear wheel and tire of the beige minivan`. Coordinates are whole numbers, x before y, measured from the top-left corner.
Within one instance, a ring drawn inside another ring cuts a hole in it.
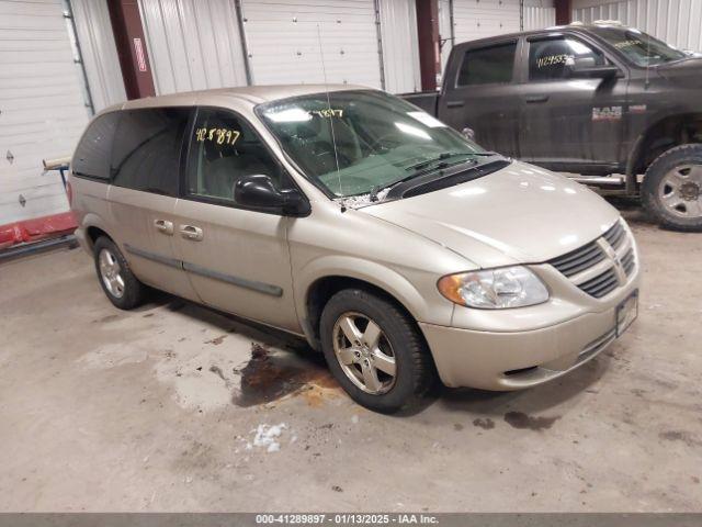
[[[95,272],[110,302],[121,310],[132,310],[146,298],[146,285],[137,280],[116,244],[101,236],[93,247]]]

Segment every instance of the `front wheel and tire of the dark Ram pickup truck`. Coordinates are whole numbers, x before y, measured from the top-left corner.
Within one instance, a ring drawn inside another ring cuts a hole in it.
[[[642,200],[661,226],[702,231],[702,145],[677,146],[658,156],[646,170]]]

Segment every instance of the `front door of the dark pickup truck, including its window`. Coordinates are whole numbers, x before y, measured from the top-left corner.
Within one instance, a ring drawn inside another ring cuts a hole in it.
[[[555,170],[608,173],[619,168],[626,80],[578,74],[612,65],[571,35],[528,38],[521,90],[521,154]]]

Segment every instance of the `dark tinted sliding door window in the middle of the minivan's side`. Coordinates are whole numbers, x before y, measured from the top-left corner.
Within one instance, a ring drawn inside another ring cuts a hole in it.
[[[189,109],[121,112],[112,150],[113,184],[158,194],[178,194],[178,172]]]

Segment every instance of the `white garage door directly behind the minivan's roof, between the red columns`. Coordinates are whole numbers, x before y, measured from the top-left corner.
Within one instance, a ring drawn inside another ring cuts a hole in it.
[[[244,0],[242,14],[253,83],[324,82],[326,69],[381,88],[373,0]]]

